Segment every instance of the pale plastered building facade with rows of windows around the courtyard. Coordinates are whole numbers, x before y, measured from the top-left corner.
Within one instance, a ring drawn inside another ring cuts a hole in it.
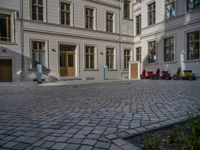
[[[200,76],[199,0],[0,0],[0,80],[127,78],[178,67]]]

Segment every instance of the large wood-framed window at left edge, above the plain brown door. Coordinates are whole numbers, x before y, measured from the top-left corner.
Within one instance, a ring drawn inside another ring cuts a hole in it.
[[[11,15],[0,13],[0,41],[11,41]]]

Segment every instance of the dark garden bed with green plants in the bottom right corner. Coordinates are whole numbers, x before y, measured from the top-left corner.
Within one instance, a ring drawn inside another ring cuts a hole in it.
[[[127,140],[143,150],[200,150],[200,116]]]

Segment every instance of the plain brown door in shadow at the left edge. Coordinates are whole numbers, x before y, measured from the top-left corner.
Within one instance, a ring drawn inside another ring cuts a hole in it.
[[[0,81],[12,81],[11,59],[0,59]]]

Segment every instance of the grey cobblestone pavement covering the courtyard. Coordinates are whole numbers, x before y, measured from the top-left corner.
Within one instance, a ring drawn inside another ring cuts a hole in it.
[[[124,137],[199,109],[200,81],[0,83],[0,150],[134,150]]]

